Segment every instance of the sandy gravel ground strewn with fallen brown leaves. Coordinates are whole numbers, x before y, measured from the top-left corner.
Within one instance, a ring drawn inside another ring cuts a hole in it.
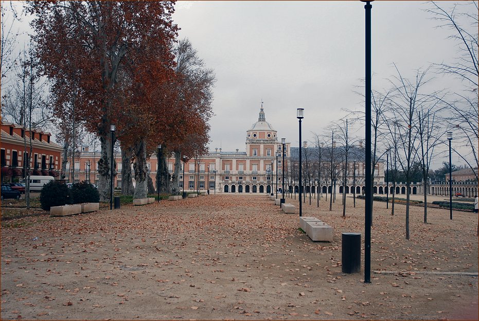
[[[294,199],[288,203],[297,205]],[[364,241],[364,201],[303,207],[313,242],[265,195],[123,206],[2,224],[2,319],[478,319],[477,215],[374,206],[371,283],[341,272],[341,233]],[[390,206],[391,204],[389,204]],[[13,221],[13,220],[12,220]],[[37,238],[37,239],[35,239]],[[362,262],[363,265],[363,262]]]

